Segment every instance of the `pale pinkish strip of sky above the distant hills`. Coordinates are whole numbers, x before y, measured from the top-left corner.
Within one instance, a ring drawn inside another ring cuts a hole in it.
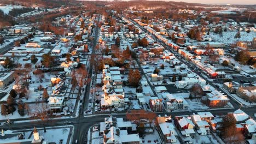
[[[87,1],[87,0],[84,0]],[[103,0],[112,1],[112,0]],[[123,0],[128,1],[128,0]],[[161,0],[161,1],[175,1],[188,3],[203,3],[203,4],[256,4],[256,0]]]

